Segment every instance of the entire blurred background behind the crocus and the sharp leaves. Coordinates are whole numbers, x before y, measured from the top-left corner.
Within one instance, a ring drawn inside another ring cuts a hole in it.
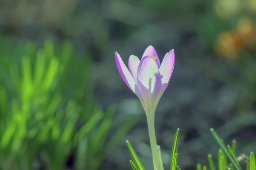
[[[216,161],[213,127],[237,156],[256,152],[256,0],[1,0],[0,169],[152,169],[145,113],[122,81],[153,45],[175,70],[156,112],[169,168]],[[215,162],[217,164],[217,161]]]

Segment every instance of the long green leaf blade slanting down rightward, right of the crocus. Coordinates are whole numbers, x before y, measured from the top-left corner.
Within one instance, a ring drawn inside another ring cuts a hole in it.
[[[227,157],[230,159],[231,163],[234,167],[236,167],[237,170],[241,170],[241,167],[239,164],[236,163],[236,161],[233,159],[233,157],[230,155],[229,150],[227,149],[224,142],[221,141],[221,138],[218,136],[218,134],[215,132],[213,128],[210,129],[213,138],[216,140],[216,142],[219,144],[219,146],[223,149],[223,151],[226,153]]]

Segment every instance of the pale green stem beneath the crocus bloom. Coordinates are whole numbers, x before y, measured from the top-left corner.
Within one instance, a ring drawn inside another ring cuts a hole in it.
[[[154,113],[147,113],[148,133],[153,156],[154,170],[161,170],[159,153],[157,150],[157,139],[154,128]]]

